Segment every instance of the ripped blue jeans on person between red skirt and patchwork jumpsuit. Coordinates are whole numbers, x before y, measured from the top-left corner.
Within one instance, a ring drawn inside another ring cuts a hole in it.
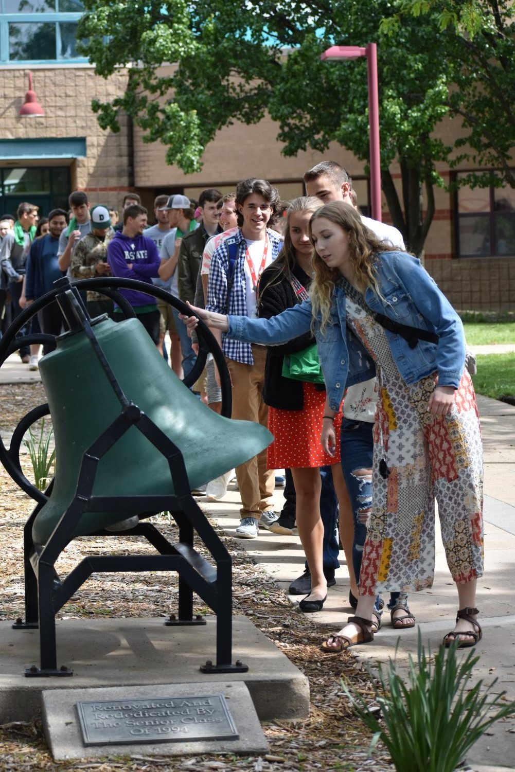
[[[374,454],[374,424],[369,421],[354,421],[344,418],[341,424],[341,467],[344,470],[345,485],[351,497],[354,513],[354,543],[352,544],[352,562],[358,584],[363,558],[363,547],[367,538],[367,523],[372,506],[372,476],[357,475],[359,469],[372,468]],[[388,608],[401,604],[407,608],[408,595],[392,592]],[[375,599],[375,609],[380,611],[380,597]]]

